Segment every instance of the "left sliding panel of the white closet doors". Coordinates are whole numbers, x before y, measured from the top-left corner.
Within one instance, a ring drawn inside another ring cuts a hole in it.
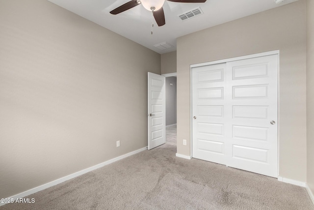
[[[193,68],[193,157],[226,164],[226,63]]]

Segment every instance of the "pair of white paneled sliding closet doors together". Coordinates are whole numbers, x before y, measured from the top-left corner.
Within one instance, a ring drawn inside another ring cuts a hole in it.
[[[192,156],[278,177],[278,55],[192,68]]]

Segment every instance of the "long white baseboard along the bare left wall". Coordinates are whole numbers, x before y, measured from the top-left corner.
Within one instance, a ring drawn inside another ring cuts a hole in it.
[[[87,168],[87,169],[83,169],[83,170],[78,171],[78,172],[76,172],[76,173],[74,173],[74,174],[70,174],[70,175],[65,176],[65,177],[62,177],[62,178],[60,178],[60,179],[57,179],[57,180],[48,182],[48,183],[46,183],[46,184],[43,184],[43,185],[34,187],[34,188],[32,188],[32,189],[26,190],[26,191],[21,192],[21,193],[19,193],[19,194],[13,195],[13,196],[11,196],[11,197],[9,197],[9,198],[7,198],[7,199],[14,199],[14,201],[15,201],[17,198],[24,198],[24,197],[26,197],[26,196],[28,196],[28,195],[31,195],[31,194],[33,194],[33,193],[36,193],[36,192],[39,192],[39,191],[41,191],[41,190],[47,189],[47,188],[49,188],[49,187],[52,187],[52,186],[57,185],[57,184],[59,184],[59,183],[62,183],[62,182],[64,182],[64,181],[71,180],[71,179],[76,178],[76,177],[78,177],[78,176],[80,176],[80,175],[86,174],[87,172],[90,172],[90,171],[93,171],[93,170],[95,170],[95,169],[101,168],[101,167],[103,167],[103,166],[105,166],[105,165],[108,165],[108,164],[113,163],[113,162],[115,162],[115,161],[118,161],[118,160],[121,160],[121,159],[123,159],[123,158],[129,157],[129,156],[131,156],[131,155],[133,155],[133,154],[136,154],[136,153],[141,152],[141,151],[144,151],[144,150],[147,150],[147,147],[142,148],[142,149],[139,149],[139,150],[131,151],[131,152],[127,153],[127,154],[121,155],[121,156],[119,156],[119,157],[115,157],[115,158],[113,158],[113,159],[107,160],[107,161],[105,161],[105,162],[103,162],[103,163],[97,164],[97,165],[92,166],[92,167],[89,167],[89,168]],[[6,203],[0,203],[0,206],[3,206],[3,205],[5,205],[5,204],[6,204]]]

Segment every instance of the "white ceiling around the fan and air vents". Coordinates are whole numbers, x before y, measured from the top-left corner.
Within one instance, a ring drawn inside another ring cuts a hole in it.
[[[159,54],[176,50],[176,39],[180,36],[236,20],[248,15],[282,6],[297,0],[285,0],[276,4],[274,0],[207,0],[205,3],[177,3],[165,1],[163,5],[166,24],[155,23],[151,34],[152,14],[142,5],[112,15],[109,12],[130,0],[49,0],[106,29],[112,30]],[[196,7],[204,14],[182,21],[178,15]],[[155,20],[154,20],[155,22]],[[167,42],[173,48],[160,50],[154,45]]]

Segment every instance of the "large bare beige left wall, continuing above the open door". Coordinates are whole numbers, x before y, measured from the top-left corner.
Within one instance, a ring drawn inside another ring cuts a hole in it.
[[[47,0],[0,0],[0,198],[146,147],[148,70],[159,54]]]

